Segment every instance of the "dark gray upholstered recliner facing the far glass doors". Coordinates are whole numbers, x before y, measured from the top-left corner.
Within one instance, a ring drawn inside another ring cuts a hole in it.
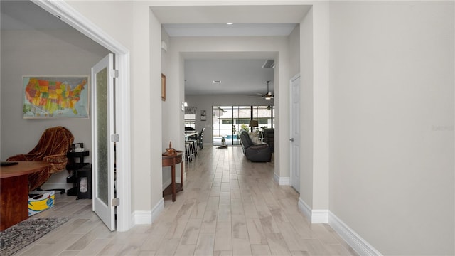
[[[245,130],[240,131],[239,137],[243,154],[245,154],[248,160],[255,162],[268,162],[272,160],[272,150],[269,145],[255,145],[250,139],[250,135]]]

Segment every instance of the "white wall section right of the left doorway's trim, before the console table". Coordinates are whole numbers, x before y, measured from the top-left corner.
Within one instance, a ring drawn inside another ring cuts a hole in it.
[[[65,4],[129,50],[132,222],[151,223],[152,215],[162,207],[161,26],[148,1]]]

